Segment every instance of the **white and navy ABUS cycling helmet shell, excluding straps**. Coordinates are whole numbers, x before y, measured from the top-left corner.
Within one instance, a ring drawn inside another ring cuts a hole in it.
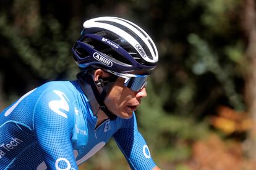
[[[105,68],[118,73],[149,72],[156,67],[158,51],[150,36],[128,20],[98,17],[83,23],[72,47],[80,68]]]

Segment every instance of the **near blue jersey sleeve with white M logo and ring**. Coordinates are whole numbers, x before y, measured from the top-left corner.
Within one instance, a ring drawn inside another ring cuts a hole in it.
[[[78,169],[70,140],[70,100],[63,91],[44,92],[34,110],[34,131],[48,169]]]

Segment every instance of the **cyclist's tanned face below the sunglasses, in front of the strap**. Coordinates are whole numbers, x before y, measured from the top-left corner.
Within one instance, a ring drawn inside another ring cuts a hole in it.
[[[113,88],[105,98],[109,111],[121,118],[131,118],[132,112],[139,107],[141,99],[147,96],[145,87],[135,92],[124,86],[124,78],[117,78]]]

